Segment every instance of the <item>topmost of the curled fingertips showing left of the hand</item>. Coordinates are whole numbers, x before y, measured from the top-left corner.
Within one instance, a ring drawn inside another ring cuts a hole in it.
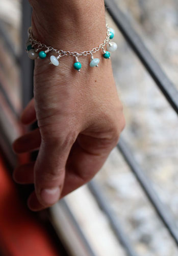
[[[31,124],[36,121],[35,102],[34,98],[28,103],[20,116],[20,121],[23,124]]]

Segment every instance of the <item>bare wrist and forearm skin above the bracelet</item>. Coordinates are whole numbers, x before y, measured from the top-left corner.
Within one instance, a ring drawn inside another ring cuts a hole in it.
[[[66,0],[65,3],[43,1],[42,10],[39,7],[40,1],[32,2],[33,34],[46,45],[57,49],[84,51],[99,45],[106,37],[103,0],[93,3],[86,0]]]

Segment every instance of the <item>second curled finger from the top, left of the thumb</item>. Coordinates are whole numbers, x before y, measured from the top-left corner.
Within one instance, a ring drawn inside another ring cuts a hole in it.
[[[12,147],[15,153],[25,153],[37,150],[40,147],[40,143],[41,135],[38,128],[16,139]]]

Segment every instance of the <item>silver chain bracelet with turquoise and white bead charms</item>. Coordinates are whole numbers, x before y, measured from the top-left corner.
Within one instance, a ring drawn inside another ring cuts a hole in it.
[[[103,44],[100,44],[98,47],[93,48],[89,51],[84,51],[81,53],[78,52],[70,52],[70,51],[63,51],[63,50],[57,50],[54,49],[51,46],[46,46],[45,44],[42,44],[40,41],[37,41],[36,38],[33,37],[32,33],[32,27],[29,27],[28,29],[28,41],[26,42],[26,52],[28,53],[29,58],[31,59],[44,59],[47,56],[47,53],[54,52],[55,55],[50,55],[50,65],[59,66],[59,59],[64,56],[73,56],[75,58],[75,62],[73,64],[73,68],[80,72],[82,68],[81,62],[79,62],[79,56],[88,56],[91,55],[90,58],[90,67],[98,67],[99,58],[94,58],[93,53],[103,50],[103,57],[105,59],[110,59],[110,52],[114,52],[117,49],[117,44],[115,42],[110,42],[110,39],[113,39],[115,31],[112,28],[109,28],[106,24],[107,28],[107,36],[103,42]],[[104,49],[106,46],[107,50]]]

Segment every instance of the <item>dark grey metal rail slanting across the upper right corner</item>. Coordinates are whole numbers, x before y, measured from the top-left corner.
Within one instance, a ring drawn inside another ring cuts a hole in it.
[[[178,114],[178,91],[174,84],[166,76],[155,58],[152,57],[151,53],[143,44],[140,36],[132,28],[128,18],[126,18],[120,11],[114,0],[105,0],[105,5],[125,40],[128,41],[133,51],[143,63],[143,66],[154,79],[172,108]]]

